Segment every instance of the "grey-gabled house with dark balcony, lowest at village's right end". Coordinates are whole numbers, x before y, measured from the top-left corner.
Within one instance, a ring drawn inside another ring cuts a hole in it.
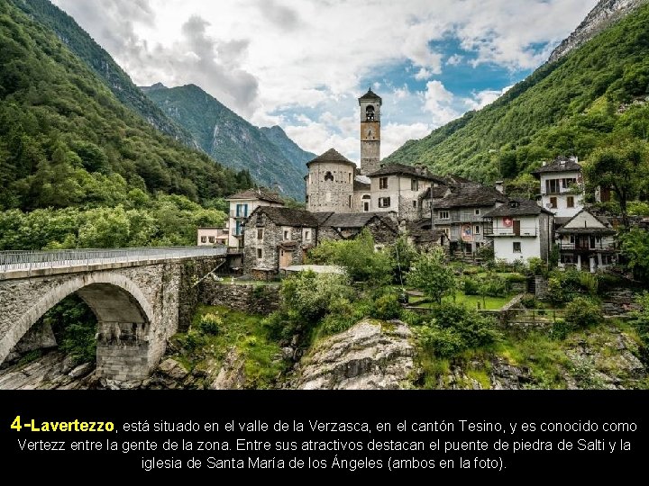
[[[616,230],[608,219],[582,209],[556,230],[559,266],[596,272],[617,263]]]

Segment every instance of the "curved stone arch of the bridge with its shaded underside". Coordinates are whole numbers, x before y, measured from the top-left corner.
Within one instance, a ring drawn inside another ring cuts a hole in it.
[[[154,312],[151,302],[146,298],[140,287],[128,277],[115,272],[90,272],[79,274],[44,293],[41,298],[15,321],[14,325],[3,338],[0,339],[0,363],[5,360],[11,349],[23,338],[23,335],[32,328],[32,325],[57,303],[68,297],[71,293],[78,295],[87,303],[95,313],[98,321],[99,339],[97,342],[97,369],[101,373],[105,360],[106,348],[108,362],[114,361],[128,344],[146,344],[149,340],[151,323],[154,321]],[[115,346],[121,345],[121,346]],[[104,350],[102,351],[102,347]],[[115,348],[116,353],[115,353]],[[133,349],[125,354],[133,356]],[[142,356],[142,352],[135,353]],[[146,356],[146,352],[144,352]],[[138,359],[137,361],[142,361]],[[133,360],[132,360],[133,362]],[[133,362],[133,365],[137,365]],[[142,373],[147,373],[147,360],[142,361]],[[137,366],[139,367],[139,366]],[[114,373],[109,373],[114,374]]]

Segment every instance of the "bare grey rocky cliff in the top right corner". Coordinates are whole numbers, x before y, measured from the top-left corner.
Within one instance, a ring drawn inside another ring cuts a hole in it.
[[[647,0],[600,0],[579,24],[568,38],[564,39],[548,58],[553,62],[568,54],[572,49],[578,48],[584,42],[595,37],[599,32],[604,31],[611,23],[615,23],[625,17]]]

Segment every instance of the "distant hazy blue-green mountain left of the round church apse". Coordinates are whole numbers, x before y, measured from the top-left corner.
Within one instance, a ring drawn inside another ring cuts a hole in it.
[[[279,127],[259,129],[197,85],[142,87],[160,109],[185,127],[200,148],[226,166],[250,171],[261,184],[304,199],[305,162],[314,154],[297,147]]]

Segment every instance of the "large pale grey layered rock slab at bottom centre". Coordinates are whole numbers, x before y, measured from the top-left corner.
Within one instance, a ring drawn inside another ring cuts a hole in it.
[[[383,390],[408,387],[415,347],[400,321],[361,320],[315,345],[302,360],[295,388]]]

